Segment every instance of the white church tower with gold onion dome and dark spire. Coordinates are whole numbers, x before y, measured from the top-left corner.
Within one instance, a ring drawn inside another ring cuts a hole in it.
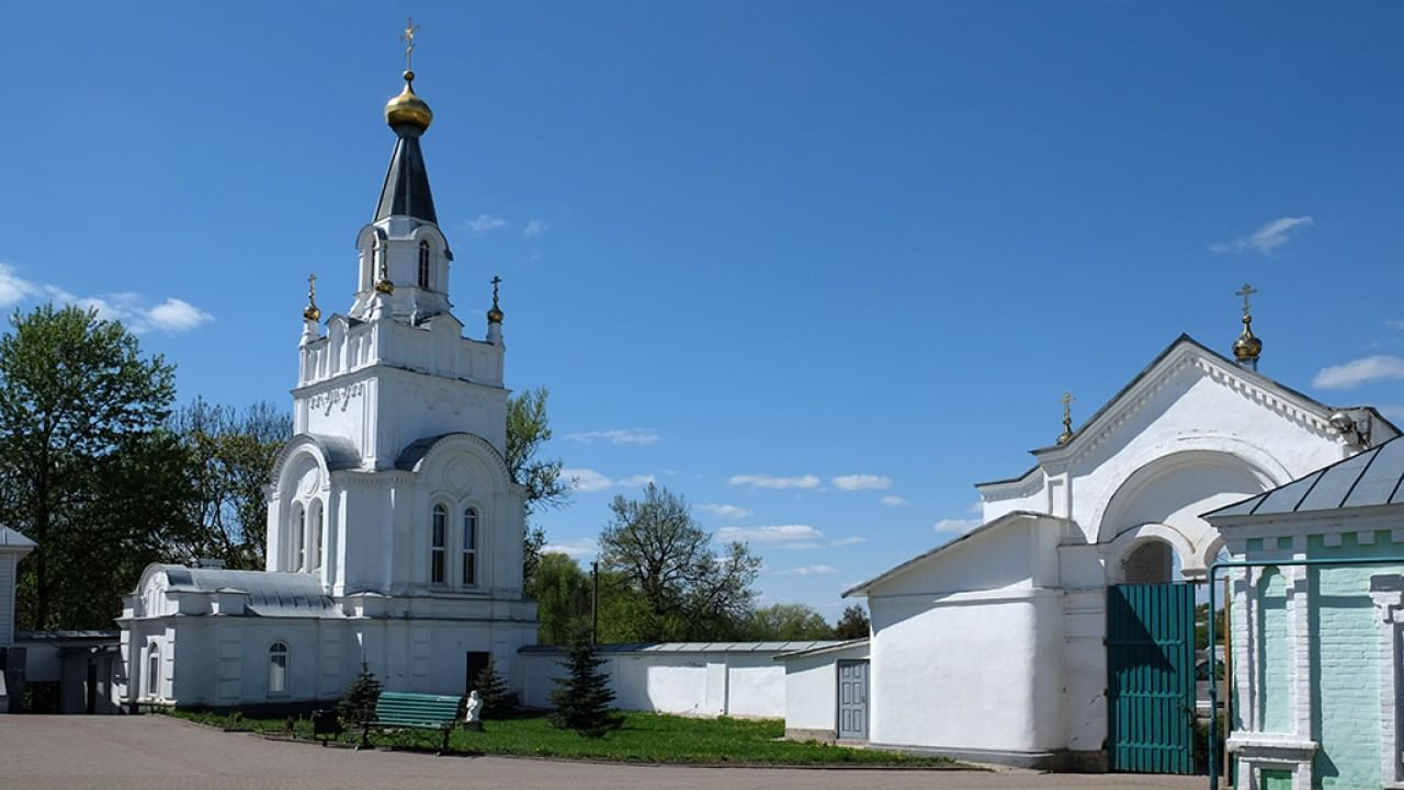
[[[386,689],[463,695],[489,658],[511,678],[536,641],[496,281],[486,337],[463,337],[420,150],[432,114],[404,80],[351,309],[323,331],[307,295],[267,570],[146,568],[118,619],[133,707],[336,699],[362,661]]]

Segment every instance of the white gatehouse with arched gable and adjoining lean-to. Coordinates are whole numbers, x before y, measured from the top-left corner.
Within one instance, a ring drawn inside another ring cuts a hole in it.
[[[1108,766],[1108,588],[1203,580],[1224,542],[1200,514],[1398,435],[1259,375],[1258,348],[1182,335],[1031,470],[979,484],[981,526],[848,592],[872,612],[870,742]]]

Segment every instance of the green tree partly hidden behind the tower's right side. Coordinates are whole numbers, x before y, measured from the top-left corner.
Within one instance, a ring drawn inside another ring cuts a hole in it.
[[[536,387],[507,399],[507,470],[514,483],[526,487],[528,518],[542,508],[559,508],[570,501],[570,481],[560,477],[560,459],[536,457],[541,446],[550,441],[549,396],[546,387]],[[545,532],[528,525],[522,544],[522,575],[528,584],[545,543]]]

